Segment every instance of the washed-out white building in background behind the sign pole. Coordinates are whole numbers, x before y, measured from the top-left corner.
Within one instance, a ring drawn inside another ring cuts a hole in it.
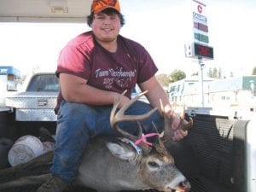
[[[256,76],[230,79],[204,79],[202,96],[198,76],[169,85],[169,99],[174,107],[247,108],[256,110]]]

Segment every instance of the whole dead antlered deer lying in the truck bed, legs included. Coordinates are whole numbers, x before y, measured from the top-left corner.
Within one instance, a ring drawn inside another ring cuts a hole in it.
[[[157,110],[157,108],[154,108],[143,115],[124,115],[125,110],[143,94],[145,92],[131,99],[131,102],[120,108],[117,113],[121,98],[114,102],[110,123],[113,129],[124,138],[92,138],[84,150],[79,166],[79,174],[74,184],[90,187],[101,192],[139,189],[157,189],[166,192],[172,192],[172,190],[179,192],[189,191],[189,181],[177,170],[172,155],[168,153],[163,143],[163,141],[172,138],[173,130],[170,127],[172,119],[170,121],[163,113],[165,133],[169,138],[158,137],[157,143],[148,143],[146,141],[141,125],[138,126],[138,136],[131,135],[119,128],[119,122],[146,119]],[[187,130],[192,124],[192,120],[189,123],[184,123],[182,119],[179,129]],[[26,164],[3,170],[0,175],[18,172],[26,166],[43,161],[47,162],[51,159],[52,152],[49,152]],[[44,183],[49,176],[50,174],[22,177],[15,181],[1,183],[0,189]]]

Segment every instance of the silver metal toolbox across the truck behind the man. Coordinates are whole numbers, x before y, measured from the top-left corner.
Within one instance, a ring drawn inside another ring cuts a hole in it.
[[[6,106],[15,108],[17,121],[55,121],[57,92],[22,92],[6,98]]]

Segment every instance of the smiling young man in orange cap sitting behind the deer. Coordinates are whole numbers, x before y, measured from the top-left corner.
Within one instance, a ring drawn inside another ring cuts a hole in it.
[[[146,113],[163,102],[165,112],[171,115],[172,107],[165,91],[155,79],[157,67],[142,45],[119,35],[124,25],[119,1],[94,0],[87,18],[92,31],[84,32],[61,50],[56,74],[61,90],[55,112],[58,114],[52,178],[38,192],[61,192],[77,175],[81,155],[90,137],[113,135],[109,123],[115,98],[127,90],[121,108],[131,99],[136,84],[148,90],[148,103],[136,102],[127,114]],[[162,127],[160,113],[143,121],[147,132],[154,131],[151,122]],[[177,128],[179,118],[172,124]],[[134,133],[137,123],[120,125]],[[174,140],[180,140],[187,131],[175,131]]]

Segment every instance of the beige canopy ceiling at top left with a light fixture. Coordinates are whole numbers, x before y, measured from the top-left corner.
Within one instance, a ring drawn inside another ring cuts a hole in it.
[[[0,22],[85,22],[91,0],[0,0]]]

